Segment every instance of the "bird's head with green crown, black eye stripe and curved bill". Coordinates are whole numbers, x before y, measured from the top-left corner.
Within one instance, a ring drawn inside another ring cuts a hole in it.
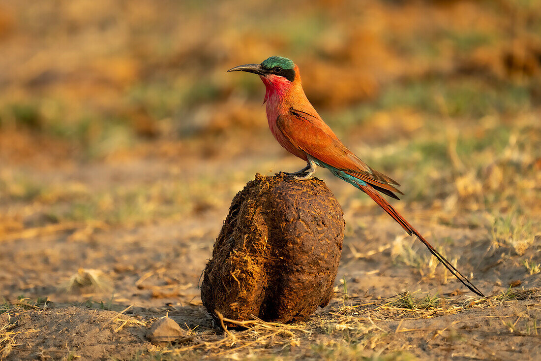
[[[271,56],[261,64],[239,65],[227,71],[258,74],[267,87],[267,93],[269,91],[282,93],[291,88],[293,83],[300,84],[299,67],[287,57]]]

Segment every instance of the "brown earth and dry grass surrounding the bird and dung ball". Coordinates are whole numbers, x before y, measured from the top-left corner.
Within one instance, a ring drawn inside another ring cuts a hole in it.
[[[538,359],[541,5],[0,1],[0,359]],[[258,77],[287,56],[465,293],[351,185],[331,304],[222,332],[197,287],[231,199],[304,164]],[[187,338],[144,337],[166,314]]]

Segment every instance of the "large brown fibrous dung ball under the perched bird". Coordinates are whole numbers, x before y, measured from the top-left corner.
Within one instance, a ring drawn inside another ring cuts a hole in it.
[[[323,181],[255,176],[234,198],[201,286],[230,319],[286,323],[326,306],[344,239],[342,208]]]

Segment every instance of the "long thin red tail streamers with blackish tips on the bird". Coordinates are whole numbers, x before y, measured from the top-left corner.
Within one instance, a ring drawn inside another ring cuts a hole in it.
[[[423,242],[425,244],[425,246],[428,248],[428,250],[430,251],[430,253],[432,253],[437,259],[438,261],[440,261],[444,266],[445,268],[447,268],[449,270],[449,272],[451,272],[460,282],[463,283],[464,286],[466,286],[467,288],[470,289],[470,291],[472,291],[473,293],[481,296],[481,297],[484,297],[485,295],[483,294],[483,292],[479,291],[479,289],[473,285],[472,282],[470,282],[466,276],[464,276],[463,274],[460,273],[460,271],[454,267],[451,262],[447,261],[445,259],[444,256],[442,256],[437,250],[436,248],[432,247],[432,244],[428,243],[427,240],[425,240],[425,238],[423,236],[421,236],[419,234],[419,232],[413,228],[413,226],[408,223],[403,216],[401,216],[393,207],[391,204],[389,204],[385,198],[383,198],[370,184],[360,184],[358,183],[357,184],[359,186],[359,189],[364,191],[368,196],[370,196],[370,198],[373,199],[373,201],[375,203],[378,203],[378,205],[383,208],[391,217],[394,218],[395,221],[397,221],[401,226],[402,228],[404,228],[406,230],[406,232],[412,236],[412,235],[415,235],[417,236],[417,238],[419,238],[419,240],[421,242]]]

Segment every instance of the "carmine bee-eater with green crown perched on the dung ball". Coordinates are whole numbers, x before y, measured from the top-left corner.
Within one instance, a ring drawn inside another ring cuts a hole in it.
[[[484,296],[459,270],[445,259],[408,221],[389,204],[384,194],[399,199],[396,181],[373,170],[346,148],[321,119],[302,89],[299,67],[285,57],[271,56],[261,64],[246,64],[228,72],[258,74],[265,84],[267,121],[274,138],[287,151],[307,162],[306,167],[286,173],[295,179],[312,178],[316,166],[327,168],[333,175],[354,185],[378,203],[408,234],[415,235],[473,293]]]

